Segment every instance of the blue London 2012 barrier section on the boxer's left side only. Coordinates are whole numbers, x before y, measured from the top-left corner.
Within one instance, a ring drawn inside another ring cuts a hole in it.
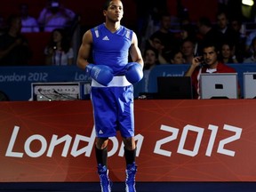
[[[31,83],[88,81],[76,66],[1,67],[0,91],[10,100],[29,100]]]

